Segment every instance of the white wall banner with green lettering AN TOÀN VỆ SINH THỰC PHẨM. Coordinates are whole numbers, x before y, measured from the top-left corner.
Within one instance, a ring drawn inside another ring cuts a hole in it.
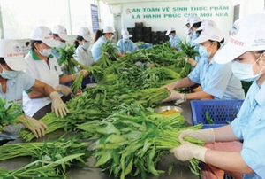
[[[186,38],[186,17],[193,15],[201,19],[211,19],[223,32],[225,40],[233,24],[234,6],[231,1],[163,2],[123,4],[124,27],[135,27],[135,22],[143,22],[152,31],[166,31],[175,27],[180,38]]]

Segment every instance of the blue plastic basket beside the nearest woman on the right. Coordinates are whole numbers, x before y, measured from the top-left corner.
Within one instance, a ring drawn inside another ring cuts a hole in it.
[[[233,121],[244,100],[193,100],[191,108],[193,113],[193,125],[201,124],[202,128],[217,128]],[[213,124],[208,124],[208,113]]]

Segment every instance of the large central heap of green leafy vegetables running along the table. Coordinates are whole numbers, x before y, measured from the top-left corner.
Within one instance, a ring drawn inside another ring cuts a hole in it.
[[[155,107],[169,95],[168,90],[160,87],[190,72],[191,66],[184,59],[186,52],[172,51],[169,43],[163,43],[117,58],[115,46],[110,45],[106,44],[95,66],[82,66],[94,75],[98,85],[83,89],[79,96],[68,101],[70,112],[64,118],[48,113],[40,121],[49,127],[46,134],[57,129],[82,133],[80,139],[92,141],[95,167],[110,175],[121,179],[126,175],[142,178],[148,174],[160,175],[164,171],[157,169],[157,163],[179,145],[178,131],[201,128],[187,127],[180,113],[155,113]],[[186,49],[193,48],[187,45]],[[193,55],[196,55],[194,51],[189,54]],[[137,61],[155,67],[137,66]],[[79,82],[75,85],[78,88]],[[27,142],[34,139],[26,128],[20,135]],[[186,140],[203,144],[189,137]],[[196,175],[200,173],[198,162],[190,160],[191,171]]]

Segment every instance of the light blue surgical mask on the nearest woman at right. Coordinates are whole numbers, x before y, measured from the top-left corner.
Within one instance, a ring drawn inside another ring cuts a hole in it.
[[[260,56],[260,58],[261,58],[261,56]],[[257,61],[260,58],[258,58],[254,62],[254,64],[257,63]],[[244,63],[240,63],[238,61],[232,61],[231,70],[232,70],[233,74],[241,81],[245,81],[245,82],[256,81],[261,77],[261,71],[263,70],[264,66],[262,66],[262,68],[258,74],[254,75],[254,71],[253,71],[254,64],[244,64]]]

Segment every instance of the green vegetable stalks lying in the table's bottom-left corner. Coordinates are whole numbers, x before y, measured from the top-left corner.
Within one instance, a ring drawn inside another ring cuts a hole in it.
[[[75,137],[60,138],[42,143],[4,144],[0,146],[0,160],[22,156],[31,157],[31,162],[19,169],[0,168],[2,178],[66,178],[72,167],[89,167],[87,159],[92,152],[89,143]]]

